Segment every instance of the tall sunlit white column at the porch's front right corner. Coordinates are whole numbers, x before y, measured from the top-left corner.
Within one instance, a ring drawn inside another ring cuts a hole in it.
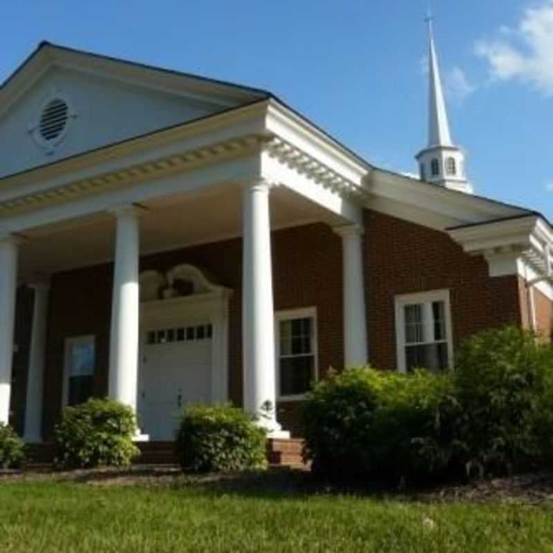
[[[276,419],[274,308],[272,294],[270,185],[262,179],[243,190],[243,384],[244,409],[260,415],[269,435],[283,433]],[[272,411],[263,417],[263,405]]]

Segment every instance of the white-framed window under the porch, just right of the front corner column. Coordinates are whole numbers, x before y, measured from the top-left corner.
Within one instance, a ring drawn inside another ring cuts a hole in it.
[[[315,308],[276,315],[278,395],[301,398],[317,378],[317,318]]]

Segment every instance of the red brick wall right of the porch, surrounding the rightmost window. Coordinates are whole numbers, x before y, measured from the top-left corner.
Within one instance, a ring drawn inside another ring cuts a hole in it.
[[[397,294],[449,288],[453,341],[491,326],[521,324],[517,277],[488,276],[447,234],[381,213],[365,213],[365,272],[371,363],[395,368]]]

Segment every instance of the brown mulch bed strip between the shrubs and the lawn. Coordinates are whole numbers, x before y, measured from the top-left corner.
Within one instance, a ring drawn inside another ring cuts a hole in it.
[[[0,482],[10,480],[54,480],[107,487],[133,486],[146,489],[174,489],[273,500],[312,496],[356,496],[373,500],[417,501],[424,503],[525,503],[553,505],[553,472],[541,471],[508,478],[490,478],[470,483],[449,482],[433,487],[397,489],[382,482],[335,485],[321,481],[310,471],[269,469],[230,474],[192,474],[174,465],[144,465],[129,469],[88,469],[67,472],[11,471],[0,474]]]

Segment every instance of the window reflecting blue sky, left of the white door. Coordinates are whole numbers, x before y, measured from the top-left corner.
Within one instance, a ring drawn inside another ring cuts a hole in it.
[[[66,339],[64,404],[86,402],[93,393],[96,364],[95,339],[80,336]]]

